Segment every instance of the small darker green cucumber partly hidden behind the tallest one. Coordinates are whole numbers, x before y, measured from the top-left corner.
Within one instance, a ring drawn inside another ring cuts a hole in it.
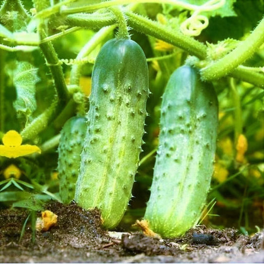
[[[87,130],[85,117],[71,117],[61,129],[58,146],[59,195],[62,203],[74,198],[75,184],[81,162],[81,152]]]

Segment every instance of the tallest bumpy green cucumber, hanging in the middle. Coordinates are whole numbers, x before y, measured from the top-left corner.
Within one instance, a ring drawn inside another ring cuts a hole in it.
[[[100,209],[108,229],[120,222],[132,196],[148,94],[148,65],[140,46],[125,39],[106,42],[92,73],[75,201],[86,210]]]

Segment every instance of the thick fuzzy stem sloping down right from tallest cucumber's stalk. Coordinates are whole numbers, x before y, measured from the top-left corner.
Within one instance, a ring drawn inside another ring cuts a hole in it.
[[[128,17],[129,25],[136,31],[168,42],[201,59],[206,58],[206,46],[192,37],[183,35],[180,31],[172,31],[172,29],[134,12],[126,11],[125,14]]]

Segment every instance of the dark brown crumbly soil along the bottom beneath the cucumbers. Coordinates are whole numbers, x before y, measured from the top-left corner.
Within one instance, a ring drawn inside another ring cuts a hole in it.
[[[100,212],[52,203],[58,215],[48,231],[36,231],[30,221],[22,239],[27,211],[0,210],[1,263],[263,263],[264,232],[244,236],[237,230],[200,226],[175,239],[158,239],[140,231],[107,232]]]

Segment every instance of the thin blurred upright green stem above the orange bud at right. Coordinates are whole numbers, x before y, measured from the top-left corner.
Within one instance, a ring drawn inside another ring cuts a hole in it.
[[[229,87],[231,89],[231,97],[234,106],[234,141],[237,144],[237,139],[240,134],[242,134],[242,111],[240,104],[240,96],[237,91],[234,78],[229,78]]]

